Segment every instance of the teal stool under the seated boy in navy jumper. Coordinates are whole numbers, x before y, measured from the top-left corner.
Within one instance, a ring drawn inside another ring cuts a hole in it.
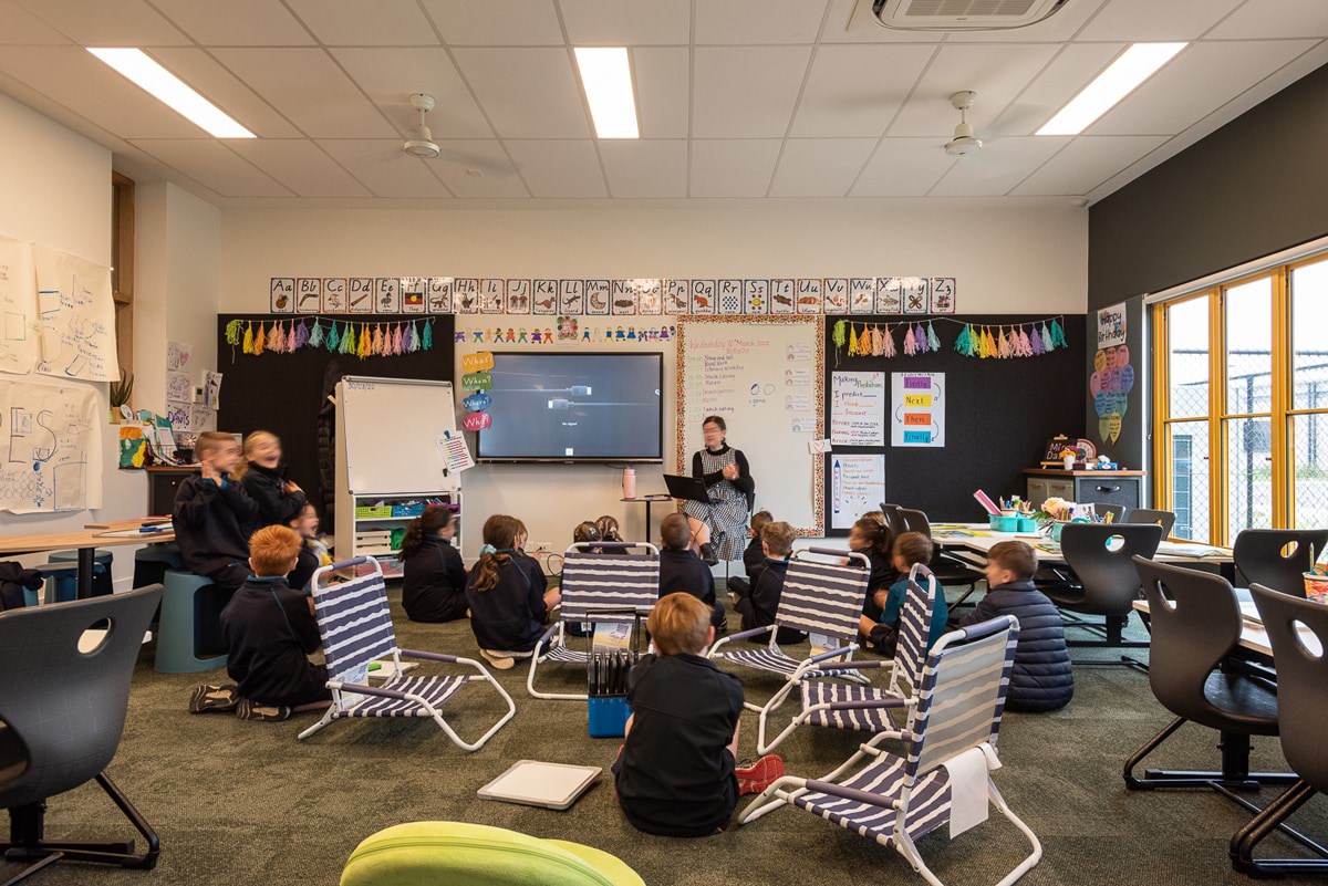
[[[193,674],[226,666],[219,615],[230,594],[210,578],[182,569],[167,569],[157,622],[158,674]]]

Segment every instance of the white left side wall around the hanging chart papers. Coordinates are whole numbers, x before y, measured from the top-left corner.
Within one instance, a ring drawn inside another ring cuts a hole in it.
[[[58,123],[0,95],[0,232],[64,249],[89,261],[110,264],[110,153]],[[0,377],[0,383],[13,377]],[[23,381],[46,385],[32,375]],[[88,385],[89,382],[60,382]],[[109,415],[106,385],[93,385],[101,415]],[[72,532],[93,520],[122,520],[147,507],[146,476],[120,471],[118,435],[102,428],[102,507],[52,515],[0,516],[5,535]],[[116,548],[114,576],[127,588],[133,574],[131,548]],[[45,556],[23,557],[42,562]]]

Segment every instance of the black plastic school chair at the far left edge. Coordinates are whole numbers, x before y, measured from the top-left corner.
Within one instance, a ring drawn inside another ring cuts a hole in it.
[[[162,598],[161,585],[69,603],[0,614],[0,809],[9,810],[9,842],[0,855],[31,862],[7,886],[60,859],[151,870],[157,833],[106,775],[125,728],[129,682]],[[108,626],[109,622],[109,626]],[[89,627],[105,635],[80,650]],[[46,800],[94,780],[147,841],[46,841]]]

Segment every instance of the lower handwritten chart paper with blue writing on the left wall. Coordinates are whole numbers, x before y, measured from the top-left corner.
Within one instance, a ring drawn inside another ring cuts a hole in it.
[[[0,511],[100,508],[102,422],[92,389],[0,382]]]

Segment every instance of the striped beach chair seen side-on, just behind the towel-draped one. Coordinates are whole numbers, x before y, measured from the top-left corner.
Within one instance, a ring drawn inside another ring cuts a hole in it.
[[[927,631],[931,626],[931,607],[936,602],[938,593],[936,577],[931,569],[916,564],[908,573],[908,590],[904,593],[904,605],[899,611],[899,642],[895,646],[894,659],[843,662],[835,666],[838,670],[859,672],[866,668],[888,667],[890,682],[886,688],[878,690],[871,686],[830,680],[803,680],[802,712],[761,753],[769,753],[803,723],[866,732],[902,728],[904,724],[896,720],[896,712],[912,711],[914,704],[916,704],[916,688],[922,679],[922,668],[927,663]]]

